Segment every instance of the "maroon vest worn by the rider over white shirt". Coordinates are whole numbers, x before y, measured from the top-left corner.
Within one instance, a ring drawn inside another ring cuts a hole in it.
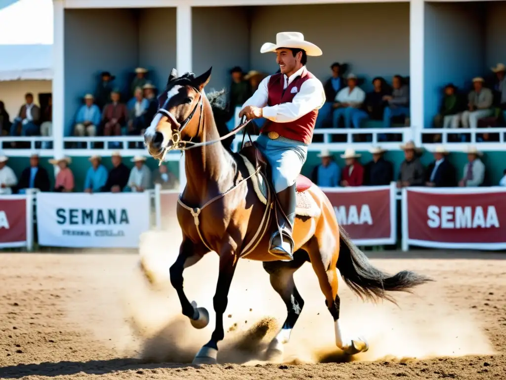
[[[301,89],[301,86],[308,79],[314,78],[314,75],[310,73],[306,68],[302,71],[302,74],[294,79],[283,93],[284,76],[281,73],[271,75],[267,90],[269,98],[267,100],[268,106],[273,106],[281,103],[289,103],[293,100],[294,96]],[[297,92],[292,92],[292,88],[297,88]],[[316,117],[318,110],[313,109],[311,112],[300,117],[289,123],[275,123],[267,120],[262,128],[262,133],[267,134],[268,132],[277,132],[280,136],[290,139],[301,141],[306,144],[310,144],[313,139],[313,130],[315,128]]]

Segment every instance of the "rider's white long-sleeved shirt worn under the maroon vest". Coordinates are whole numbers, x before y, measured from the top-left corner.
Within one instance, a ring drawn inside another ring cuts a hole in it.
[[[294,79],[299,77],[304,71],[304,68],[305,66],[301,67],[290,75],[289,78],[283,75],[283,88],[286,89]],[[300,119],[314,109],[321,108],[323,103],[325,103],[323,85],[317,78],[311,78],[306,80],[300,88],[294,87],[297,88],[297,94],[293,97],[291,102],[268,106],[267,100],[269,99],[269,90],[267,85],[269,84],[270,78],[271,75],[260,82],[257,91],[246,100],[242,108],[247,105],[260,107],[262,108],[264,118],[276,123],[289,123]]]

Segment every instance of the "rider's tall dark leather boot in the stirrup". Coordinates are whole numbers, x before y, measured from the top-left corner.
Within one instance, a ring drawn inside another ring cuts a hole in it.
[[[276,194],[280,207],[276,207],[277,230],[271,236],[269,253],[282,260],[293,260],[293,223],[297,202],[296,184]]]

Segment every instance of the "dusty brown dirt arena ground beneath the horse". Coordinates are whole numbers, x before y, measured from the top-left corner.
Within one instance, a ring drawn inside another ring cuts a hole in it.
[[[171,251],[152,262],[162,276]],[[368,352],[347,359],[334,347],[332,318],[306,264],[296,274],[306,303],[285,357],[264,362],[285,309],[261,263],[242,260],[226,312],[223,364],[195,367],[191,360],[214,327],[215,256],[185,272],[189,298],[212,315],[208,327],[195,330],[180,316],[170,284],[147,287],[136,254],[0,254],[0,378],[506,378],[506,254],[368,256],[388,272],[412,269],[437,280],[399,294],[399,307],[364,303],[340,283],[345,333],[367,336]]]

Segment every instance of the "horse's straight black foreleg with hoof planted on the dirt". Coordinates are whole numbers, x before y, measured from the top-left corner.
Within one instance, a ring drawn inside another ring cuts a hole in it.
[[[228,292],[234,277],[238,257],[230,249],[220,254],[220,273],[216,293],[213,297],[213,306],[216,312],[216,327],[211,335],[211,340],[205,344],[195,356],[193,364],[216,364],[218,357],[218,342],[225,337],[223,329],[223,314],[227,309]]]

